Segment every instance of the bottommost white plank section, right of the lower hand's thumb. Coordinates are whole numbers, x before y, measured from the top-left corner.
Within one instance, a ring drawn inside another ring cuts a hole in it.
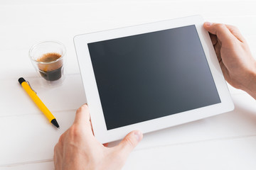
[[[247,169],[256,167],[256,136],[151,147],[129,155],[128,169]]]

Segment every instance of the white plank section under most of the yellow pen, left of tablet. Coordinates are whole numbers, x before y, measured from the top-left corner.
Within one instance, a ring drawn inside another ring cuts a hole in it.
[[[52,112],[75,111],[83,103],[87,103],[80,74],[67,75],[63,85],[55,88],[42,86],[38,77],[24,78],[30,82],[32,89]],[[6,79],[0,86],[0,118],[11,115],[43,114],[18,83],[18,77]]]

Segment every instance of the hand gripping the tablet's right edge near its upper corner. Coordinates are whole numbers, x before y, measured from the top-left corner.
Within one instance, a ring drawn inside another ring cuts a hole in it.
[[[203,26],[210,33],[225,79],[256,99],[256,62],[238,28],[208,22]]]

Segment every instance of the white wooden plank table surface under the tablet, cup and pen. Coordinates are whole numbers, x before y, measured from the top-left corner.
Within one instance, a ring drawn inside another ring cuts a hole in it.
[[[53,147],[86,102],[73,37],[82,33],[202,15],[206,21],[238,26],[256,56],[255,1],[32,1],[0,2],[0,170],[54,169]],[[38,84],[29,48],[43,40],[67,47],[63,86]],[[30,81],[53,112],[49,125],[18,84]],[[72,90],[71,90],[72,89]],[[229,86],[235,110],[144,135],[123,169],[255,169],[256,102]],[[114,144],[113,144],[114,145]]]

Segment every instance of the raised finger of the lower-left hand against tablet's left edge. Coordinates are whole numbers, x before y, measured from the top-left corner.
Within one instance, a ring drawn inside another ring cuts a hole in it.
[[[82,105],[78,108],[78,111],[75,114],[74,124],[76,125],[90,125],[90,113],[87,104]]]

